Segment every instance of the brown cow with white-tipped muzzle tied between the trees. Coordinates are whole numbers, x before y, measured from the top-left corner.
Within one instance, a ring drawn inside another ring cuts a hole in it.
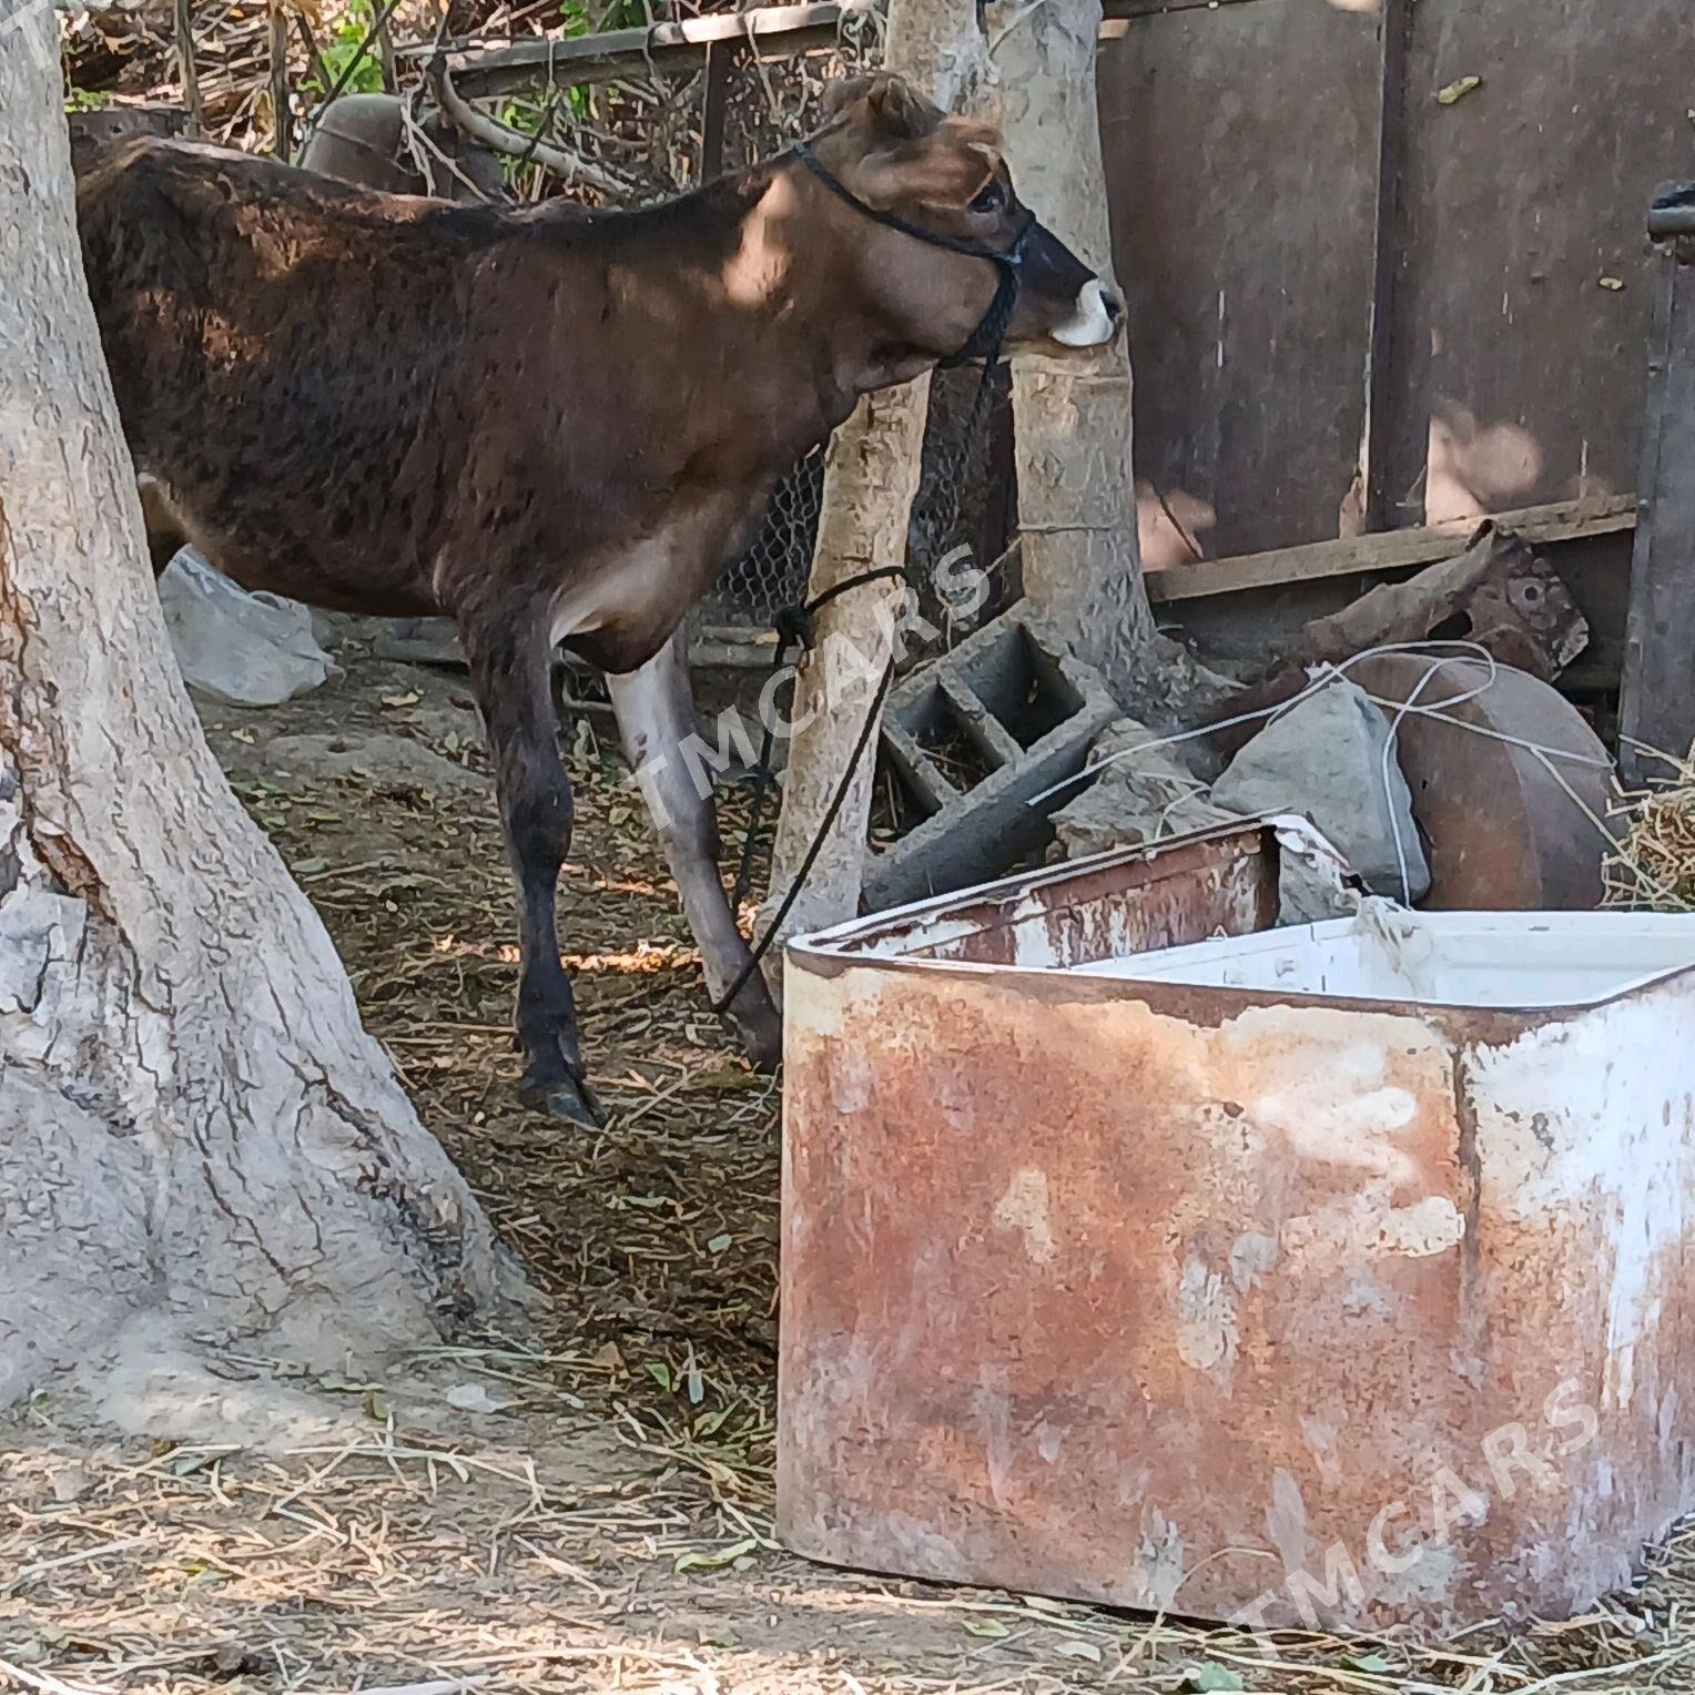
[[[861,395],[971,346],[1007,286],[1012,341],[1102,342],[1117,302],[1019,205],[993,131],[886,75],[842,85],[810,153],[639,212],[451,207],[144,141],[80,214],[156,564],[192,541],[249,588],[458,620],[517,881],[525,1098],[593,1124],[554,931],[554,644],[609,673],[632,763],[675,751],[678,627],[776,480]],[[747,944],[710,797],[663,770],[717,998]],[[775,1064],[758,973],[729,1017]]]

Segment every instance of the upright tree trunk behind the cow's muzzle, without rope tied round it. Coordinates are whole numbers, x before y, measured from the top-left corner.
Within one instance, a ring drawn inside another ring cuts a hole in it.
[[[1100,0],[1034,8],[1000,0],[988,17],[1019,197],[1107,276],[1112,231],[1095,105]],[[1142,702],[1154,636],[1136,534],[1132,397],[1122,336],[1086,354],[1020,353],[1012,361],[1024,593],[1125,705]]]

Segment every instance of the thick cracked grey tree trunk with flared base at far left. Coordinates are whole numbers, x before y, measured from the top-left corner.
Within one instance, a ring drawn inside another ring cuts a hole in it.
[[[56,31],[0,34],[0,1402],[141,1312],[324,1361],[507,1281],[176,676]]]

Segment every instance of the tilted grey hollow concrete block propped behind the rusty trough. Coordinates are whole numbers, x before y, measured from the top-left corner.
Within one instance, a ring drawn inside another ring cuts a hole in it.
[[[1027,602],[985,624],[890,695],[883,756],[922,814],[864,880],[870,910],[981,883],[1042,849],[1075,776],[1119,705],[1093,666]]]

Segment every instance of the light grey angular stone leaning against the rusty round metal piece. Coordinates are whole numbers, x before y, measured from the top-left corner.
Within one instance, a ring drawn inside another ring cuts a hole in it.
[[[1298,812],[1373,893],[1410,905],[1429,892],[1431,868],[1393,758],[1385,781],[1387,742],[1383,714],[1363,690],[1336,680],[1273,719],[1212,785],[1212,798],[1246,817]],[[1407,885],[1395,853],[1397,829]]]

